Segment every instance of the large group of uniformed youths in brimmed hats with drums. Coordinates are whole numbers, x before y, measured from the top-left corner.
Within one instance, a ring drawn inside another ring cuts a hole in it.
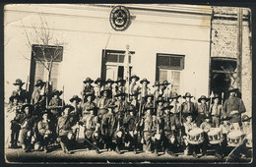
[[[167,81],[156,82],[153,92],[147,79],[139,81],[132,76],[126,86],[122,79],[87,78],[81,98],[74,95],[66,104],[61,90],[49,93],[41,80],[34,85],[32,97],[22,88],[24,83],[16,80],[6,114],[11,128],[9,147],[21,144],[25,152],[48,152],[50,144],[59,143],[63,152],[71,153],[83,128],[84,146],[97,153],[114,150],[119,154],[128,149],[157,156],[183,152],[199,157],[211,148],[222,159],[239,148],[233,158],[251,156],[251,118],[244,114],[238,89],[228,90],[225,101],[218,94],[195,100],[189,92],[172,91]]]

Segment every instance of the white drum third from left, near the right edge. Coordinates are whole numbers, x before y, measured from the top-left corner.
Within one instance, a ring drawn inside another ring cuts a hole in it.
[[[244,139],[244,135],[241,131],[231,131],[227,134],[226,139],[228,146],[238,146]]]

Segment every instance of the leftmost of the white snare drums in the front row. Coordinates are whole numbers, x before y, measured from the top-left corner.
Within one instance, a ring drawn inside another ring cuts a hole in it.
[[[191,144],[199,144],[204,141],[204,134],[203,130],[200,128],[194,128],[188,133],[188,143]]]

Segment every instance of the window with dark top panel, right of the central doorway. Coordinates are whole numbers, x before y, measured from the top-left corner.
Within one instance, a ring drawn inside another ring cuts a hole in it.
[[[172,90],[180,93],[181,72],[184,69],[184,55],[157,54],[156,80],[173,84]]]

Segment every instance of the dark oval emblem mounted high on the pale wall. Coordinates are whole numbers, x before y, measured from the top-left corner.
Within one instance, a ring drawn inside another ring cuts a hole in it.
[[[112,9],[109,20],[115,30],[125,30],[131,23],[130,12],[124,6],[116,6]]]

